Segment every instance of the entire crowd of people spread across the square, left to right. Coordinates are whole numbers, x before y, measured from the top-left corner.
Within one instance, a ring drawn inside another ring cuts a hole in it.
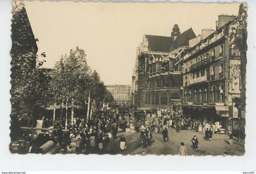
[[[118,132],[126,131],[134,127],[134,132],[140,133],[137,147],[146,148],[152,145],[152,133],[162,134],[163,142],[169,140],[168,128],[174,128],[177,132],[191,130],[205,133],[205,140],[211,141],[213,133],[218,133],[215,124],[205,124],[199,120],[192,120],[180,113],[171,111],[152,110],[145,117],[135,117],[134,110],[99,110],[97,116],[92,119],[77,117],[74,124],[65,125],[55,121],[54,131],[42,131],[41,133],[24,131],[26,150],[29,153],[40,153],[40,147],[48,141],[59,145],[60,153],[115,153],[116,150],[126,150],[126,137],[117,136]],[[52,127],[53,121],[43,117],[43,127]],[[132,125],[132,126],[131,126]],[[40,131],[39,131],[40,132]],[[199,142],[196,136],[191,139],[194,151],[199,150]],[[180,144],[180,155],[187,154],[185,144]]]

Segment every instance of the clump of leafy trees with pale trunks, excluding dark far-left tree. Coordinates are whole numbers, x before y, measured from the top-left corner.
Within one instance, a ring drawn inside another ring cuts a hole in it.
[[[59,106],[65,108],[66,126],[69,106],[71,124],[74,124],[75,106],[87,108],[84,117],[88,120],[103,103],[113,102],[112,94],[105,88],[98,72],[88,66],[85,51],[79,47],[71,49],[69,55],[62,56],[50,74],[50,78],[45,78],[49,80],[45,83],[48,89],[44,90],[41,103],[52,108],[54,118]]]

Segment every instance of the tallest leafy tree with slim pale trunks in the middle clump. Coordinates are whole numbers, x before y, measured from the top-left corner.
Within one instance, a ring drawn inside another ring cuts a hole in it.
[[[71,124],[74,124],[74,103],[85,99],[88,87],[90,67],[87,65],[85,51],[76,47],[69,55],[55,64],[52,75],[52,92],[66,105],[66,127],[68,124],[68,106],[71,104]]]

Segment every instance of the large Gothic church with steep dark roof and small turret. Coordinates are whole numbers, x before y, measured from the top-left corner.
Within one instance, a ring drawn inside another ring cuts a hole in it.
[[[132,76],[133,104],[144,108],[170,108],[180,103],[182,72],[176,62],[193,38],[196,38],[193,29],[180,33],[177,24],[170,37],[143,36]]]

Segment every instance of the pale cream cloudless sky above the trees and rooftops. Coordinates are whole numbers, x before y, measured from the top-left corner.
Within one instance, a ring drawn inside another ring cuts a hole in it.
[[[171,2],[24,2],[44,68],[54,68],[61,55],[76,46],[105,85],[131,85],[136,48],[144,34],[170,36],[190,27],[196,35],[215,29],[218,15],[238,15],[238,3]]]

